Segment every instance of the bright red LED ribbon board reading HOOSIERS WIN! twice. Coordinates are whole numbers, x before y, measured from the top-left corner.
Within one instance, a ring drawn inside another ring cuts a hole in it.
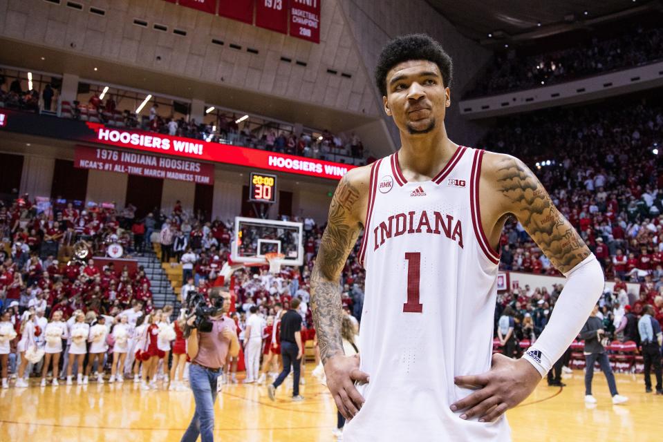
[[[77,137],[77,140],[158,153],[159,155],[188,158],[194,161],[236,164],[238,166],[257,167],[270,171],[309,175],[330,180],[340,180],[348,170],[355,168],[351,164],[315,160],[313,158],[174,137],[160,133],[129,131],[106,127],[100,123],[86,122],[86,127],[94,132],[90,136]]]

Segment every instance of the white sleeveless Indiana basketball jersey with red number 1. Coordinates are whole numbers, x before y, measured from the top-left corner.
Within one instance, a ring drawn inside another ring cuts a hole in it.
[[[359,392],[344,440],[509,441],[496,423],[463,421],[449,406],[471,393],[454,376],[490,368],[499,254],[480,223],[484,151],[458,147],[445,169],[408,182],[398,153],[371,169]]]

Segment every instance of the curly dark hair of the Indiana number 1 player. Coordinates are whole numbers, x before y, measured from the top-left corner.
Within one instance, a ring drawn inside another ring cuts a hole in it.
[[[440,44],[425,34],[409,34],[389,41],[377,59],[375,83],[380,93],[386,96],[386,74],[403,61],[428,60],[438,65],[445,87],[451,84],[453,66],[451,57]]]

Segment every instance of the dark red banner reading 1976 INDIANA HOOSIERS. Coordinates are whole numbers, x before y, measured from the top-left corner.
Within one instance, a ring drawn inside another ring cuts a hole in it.
[[[164,178],[214,184],[214,165],[144,153],[115,151],[106,148],[76,146],[74,166],[94,171],[129,173],[143,177]]]

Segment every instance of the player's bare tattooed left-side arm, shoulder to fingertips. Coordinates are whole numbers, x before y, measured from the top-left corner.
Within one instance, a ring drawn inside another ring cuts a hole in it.
[[[339,278],[365,222],[370,173],[368,166],[353,169],[339,182],[310,278],[313,322],[327,387],[346,419],[351,419],[364,402],[354,381],[366,382],[368,376],[359,371],[357,357],[344,356]]]

